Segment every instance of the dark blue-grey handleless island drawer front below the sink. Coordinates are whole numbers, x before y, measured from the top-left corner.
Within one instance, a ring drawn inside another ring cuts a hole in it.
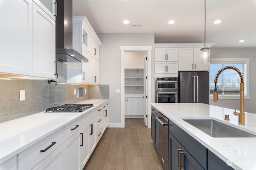
[[[188,135],[178,125],[169,120],[169,131],[180,142],[180,144],[198,161],[198,163],[206,169],[207,149],[201,143],[196,141],[192,136]]]

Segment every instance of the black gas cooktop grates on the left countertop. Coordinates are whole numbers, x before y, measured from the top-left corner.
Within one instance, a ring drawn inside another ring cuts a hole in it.
[[[46,109],[46,112],[82,112],[93,107],[93,104],[64,104]]]

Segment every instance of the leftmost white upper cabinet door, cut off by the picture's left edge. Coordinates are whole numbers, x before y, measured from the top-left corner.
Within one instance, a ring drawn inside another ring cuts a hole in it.
[[[32,75],[32,21],[32,0],[0,0],[0,72]]]

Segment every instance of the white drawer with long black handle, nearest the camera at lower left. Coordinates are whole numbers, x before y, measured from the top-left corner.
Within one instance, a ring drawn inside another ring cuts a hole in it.
[[[18,154],[18,169],[32,169],[64,143],[63,128]]]

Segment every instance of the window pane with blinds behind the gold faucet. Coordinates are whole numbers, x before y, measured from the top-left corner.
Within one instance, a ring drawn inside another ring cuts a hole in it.
[[[210,64],[210,94],[214,92],[214,79],[216,73],[224,66],[235,66],[243,72],[244,64]],[[220,73],[217,82],[217,90],[240,90],[240,76],[232,69],[224,70]],[[239,95],[239,93],[219,93],[219,95]]]

